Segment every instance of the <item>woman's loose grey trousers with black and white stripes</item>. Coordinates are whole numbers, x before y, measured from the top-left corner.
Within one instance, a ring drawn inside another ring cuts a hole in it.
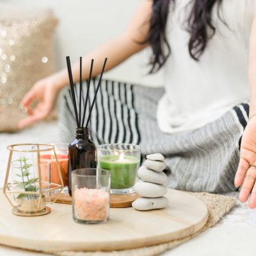
[[[92,102],[97,80],[90,90]],[[76,87],[77,95],[79,86]],[[86,82],[83,84],[83,96]],[[102,81],[90,120],[92,140],[103,143],[140,144],[143,156],[159,152],[166,157],[170,188],[223,193],[236,190],[234,176],[239,163],[239,145],[248,122],[246,102],[218,120],[195,131],[164,134],[156,120],[157,102],[163,88]],[[83,97],[83,100],[84,97]],[[70,91],[60,104],[63,142],[74,140],[76,121]]]

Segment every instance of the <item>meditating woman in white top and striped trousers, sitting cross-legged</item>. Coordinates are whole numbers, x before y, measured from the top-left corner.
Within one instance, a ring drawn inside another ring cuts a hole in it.
[[[143,154],[163,154],[171,188],[223,193],[243,184],[240,200],[251,194],[255,208],[255,15],[253,0],[143,0],[122,35],[84,56],[83,79],[92,58],[96,77],[106,56],[110,70],[151,47],[150,73],[163,68],[164,90],[103,81],[91,118],[93,141],[136,143]],[[72,70],[78,81],[79,63]],[[38,81],[22,100],[29,116],[20,127],[45,118],[67,84],[66,69]],[[60,106],[65,142],[76,126],[70,108],[66,92]]]

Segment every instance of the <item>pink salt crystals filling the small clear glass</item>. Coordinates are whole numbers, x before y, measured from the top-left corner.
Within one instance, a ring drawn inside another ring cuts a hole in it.
[[[109,193],[103,189],[76,189],[74,201],[80,220],[104,221],[108,218]]]

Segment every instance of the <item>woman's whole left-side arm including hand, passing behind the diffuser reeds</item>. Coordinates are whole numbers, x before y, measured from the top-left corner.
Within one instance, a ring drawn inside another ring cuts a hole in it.
[[[83,57],[83,79],[88,79],[92,58],[94,59],[93,77],[95,77],[100,74],[105,57],[108,58],[105,70],[110,70],[147,47],[146,44],[140,44],[140,42],[143,42],[148,35],[151,11],[152,1],[143,0],[124,33],[86,54]],[[72,74],[74,82],[77,82],[79,80],[79,62],[72,65]],[[19,127],[23,128],[44,119],[51,112],[56,95],[68,83],[66,68],[35,83],[21,102],[29,116],[19,123]],[[35,109],[32,109],[31,103],[35,100],[38,100],[38,104]]]

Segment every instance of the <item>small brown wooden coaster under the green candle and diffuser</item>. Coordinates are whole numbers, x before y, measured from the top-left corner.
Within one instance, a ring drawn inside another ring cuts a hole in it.
[[[110,195],[110,207],[111,208],[127,208],[132,206],[134,202],[140,196],[136,193],[127,195]],[[72,204],[72,197],[67,194],[61,194],[56,203],[58,204]]]

